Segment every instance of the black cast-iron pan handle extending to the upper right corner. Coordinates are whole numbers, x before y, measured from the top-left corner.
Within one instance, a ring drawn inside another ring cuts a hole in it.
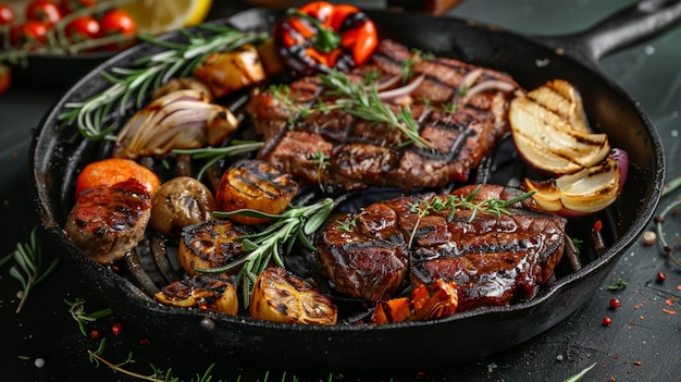
[[[586,30],[537,36],[540,42],[595,65],[603,57],[652,39],[681,24],[681,0],[643,0]]]

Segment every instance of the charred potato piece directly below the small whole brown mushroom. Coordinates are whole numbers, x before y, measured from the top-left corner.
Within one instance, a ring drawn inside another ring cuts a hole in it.
[[[177,257],[188,274],[227,266],[246,254],[237,239],[251,233],[227,220],[210,220],[184,227],[181,233]],[[230,273],[236,273],[237,269]]]

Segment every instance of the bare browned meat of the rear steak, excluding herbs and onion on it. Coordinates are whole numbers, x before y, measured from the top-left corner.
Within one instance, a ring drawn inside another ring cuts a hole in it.
[[[399,75],[406,62],[413,62],[414,76],[425,76],[411,95],[413,102],[409,107],[419,135],[433,149],[404,147],[408,138],[398,130],[340,110],[296,115],[295,108],[313,107],[320,100],[327,104],[335,101],[324,94],[319,78],[304,77],[289,84],[287,100],[273,91],[251,98],[247,110],[265,140],[259,158],[281,167],[302,184],[320,184],[323,188],[392,186],[411,190],[468,181],[470,172],[508,131],[510,91],[481,91],[454,112],[444,111],[447,108],[443,106],[461,91],[462,82],[471,78],[469,73],[479,69],[451,59],[419,60],[406,47],[389,40],[379,45],[372,64],[349,76],[359,81],[372,70],[382,77]],[[518,88],[505,74],[478,72],[478,82],[494,79]],[[397,113],[396,104],[388,108]]]

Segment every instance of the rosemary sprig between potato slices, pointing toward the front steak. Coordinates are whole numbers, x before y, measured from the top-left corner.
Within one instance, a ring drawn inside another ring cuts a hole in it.
[[[212,269],[197,269],[202,273],[222,273],[238,266],[243,266],[237,276],[243,282],[244,305],[249,305],[249,293],[252,283],[258,275],[268,267],[270,260],[284,268],[284,261],[280,254],[280,246],[284,246],[285,254],[290,252],[297,241],[308,249],[314,250],[314,246],[307,238],[322,226],[331,210],[333,200],[325,198],[308,206],[292,206],[280,214],[270,214],[251,209],[242,209],[230,212],[213,212],[215,218],[228,218],[243,214],[253,218],[264,218],[272,221],[263,231],[242,236],[242,247],[248,254],[223,267]]]

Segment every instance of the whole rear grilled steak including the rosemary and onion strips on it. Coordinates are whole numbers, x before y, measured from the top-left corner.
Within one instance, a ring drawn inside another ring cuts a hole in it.
[[[502,73],[382,41],[372,63],[258,91],[247,109],[259,158],[301,184],[412,190],[467,181],[508,132],[516,90]]]

